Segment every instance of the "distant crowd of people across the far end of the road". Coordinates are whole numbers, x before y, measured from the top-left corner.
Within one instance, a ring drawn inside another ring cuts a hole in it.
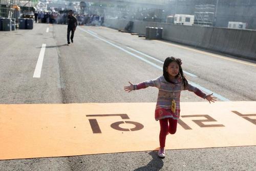
[[[67,25],[68,23],[68,13],[59,13],[59,12],[35,12],[35,22],[37,23],[55,23],[61,25]],[[104,16],[101,15],[82,15],[74,13],[74,16],[77,18],[78,25],[93,25],[93,26],[102,26],[104,22]]]

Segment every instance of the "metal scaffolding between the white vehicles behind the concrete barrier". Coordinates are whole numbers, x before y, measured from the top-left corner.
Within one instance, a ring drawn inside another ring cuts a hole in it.
[[[195,5],[195,25],[214,26],[216,5]]]

